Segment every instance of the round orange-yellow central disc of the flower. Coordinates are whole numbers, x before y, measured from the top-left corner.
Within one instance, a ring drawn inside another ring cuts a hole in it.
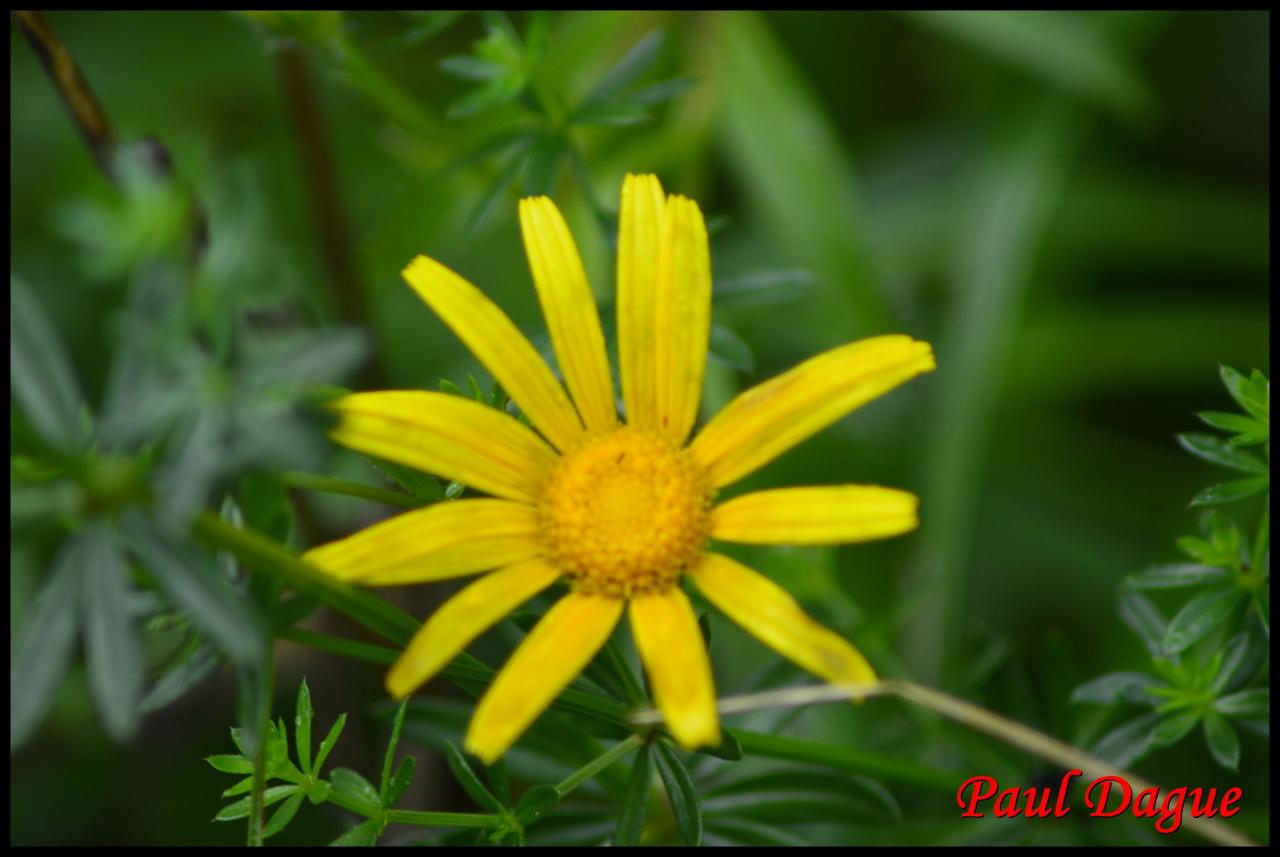
[[[698,559],[712,495],[684,450],[625,427],[564,453],[543,495],[543,532],[576,590],[631,596],[671,586]]]

